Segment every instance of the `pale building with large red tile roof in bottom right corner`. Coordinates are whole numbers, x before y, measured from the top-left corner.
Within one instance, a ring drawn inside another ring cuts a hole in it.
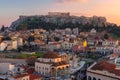
[[[94,63],[87,69],[87,80],[120,80],[120,67],[107,61]]]

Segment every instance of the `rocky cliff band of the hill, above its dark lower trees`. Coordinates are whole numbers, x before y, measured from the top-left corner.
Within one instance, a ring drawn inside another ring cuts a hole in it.
[[[72,24],[73,27],[74,27],[74,24],[80,24],[81,26],[92,25],[97,27],[113,25],[111,23],[108,23],[105,17],[98,17],[98,16],[93,16],[93,17],[85,17],[85,16],[64,17],[64,16],[48,16],[48,15],[47,16],[20,16],[18,20],[12,22],[10,29],[16,30],[16,28],[21,27],[23,23],[24,23],[24,26],[27,26],[27,27],[35,24],[33,27],[38,26],[37,28],[44,27],[42,23],[43,24],[52,23],[56,26],[62,26],[63,28],[65,24],[66,25]],[[45,26],[49,27],[48,25],[45,25]]]

